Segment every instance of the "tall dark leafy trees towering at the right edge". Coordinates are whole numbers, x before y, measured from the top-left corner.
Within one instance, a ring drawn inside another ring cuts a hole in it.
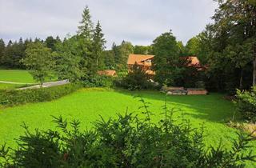
[[[250,0],[218,1],[214,23],[199,39],[209,66],[208,86],[234,93],[256,82],[256,6]]]

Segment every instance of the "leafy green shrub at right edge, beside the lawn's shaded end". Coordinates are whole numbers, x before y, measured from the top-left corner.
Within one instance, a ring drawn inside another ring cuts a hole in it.
[[[249,122],[256,122],[256,86],[250,91],[237,90],[234,102],[243,118]]]

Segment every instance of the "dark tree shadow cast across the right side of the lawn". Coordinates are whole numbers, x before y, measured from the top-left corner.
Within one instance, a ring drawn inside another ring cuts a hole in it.
[[[224,123],[229,121],[234,114],[234,105],[232,102],[223,98],[224,94],[209,95],[166,95],[159,91],[129,91],[114,90],[120,94],[130,96],[140,96],[146,101],[167,102],[170,106],[180,108],[181,114],[195,119],[202,119],[210,122]],[[239,119],[236,114],[235,119]]]

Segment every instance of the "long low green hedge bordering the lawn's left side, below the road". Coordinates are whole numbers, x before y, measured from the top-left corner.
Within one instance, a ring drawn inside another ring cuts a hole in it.
[[[66,84],[30,90],[0,90],[0,105],[14,106],[28,102],[46,102],[61,98],[81,88],[80,84]]]

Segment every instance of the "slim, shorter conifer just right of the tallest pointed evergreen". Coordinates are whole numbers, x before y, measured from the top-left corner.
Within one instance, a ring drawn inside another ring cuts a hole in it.
[[[106,48],[105,47],[106,40],[104,39],[104,34],[102,33],[102,26],[98,21],[93,35],[93,43],[92,43],[92,56],[94,58],[95,64],[94,66],[96,70],[100,70],[103,67],[103,58],[102,58],[102,51]]]

